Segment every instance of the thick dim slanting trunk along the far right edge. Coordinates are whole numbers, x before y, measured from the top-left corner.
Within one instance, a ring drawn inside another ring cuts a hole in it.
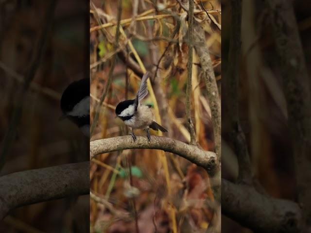
[[[289,128],[293,140],[298,201],[311,230],[311,86],[292,1],[269,0]]]

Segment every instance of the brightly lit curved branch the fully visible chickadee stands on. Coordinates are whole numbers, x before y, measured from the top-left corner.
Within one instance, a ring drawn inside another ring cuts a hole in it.
[[[131,136],[111,137],[91,141],[89,148],[90,160],[98,154],[117,150],[157,149],[177,154],[197,166],[202,166],[210,174],[219,170],[219,162],[214,152],[201,150],[196,146],[168,137],[151,136],[150,142],[148,142],[147,137],[143,136],[138,136],[135,142]]]

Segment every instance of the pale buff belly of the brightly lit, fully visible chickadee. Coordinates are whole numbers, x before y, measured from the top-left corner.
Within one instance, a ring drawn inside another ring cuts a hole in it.
[[[125,125],[132,129],[145,129],[154,121],[154,114],[146,105],[140,105],[138,112],[128,120],[124,120]]]

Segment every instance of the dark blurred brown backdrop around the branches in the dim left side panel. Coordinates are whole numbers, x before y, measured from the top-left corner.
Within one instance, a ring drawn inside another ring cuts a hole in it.
[[[50,0],[0,1],[1,141],[49,5]],[[89,77],[88,9],[85,0],[57,2],[46,53],[23,100],[17,136],[0,175],[88,160],[88,139],[69,121],[58,120],[61,93],[72,81]],[[86,196],[20,207],[0,222],[0,232],[85,233],[88,203]]]

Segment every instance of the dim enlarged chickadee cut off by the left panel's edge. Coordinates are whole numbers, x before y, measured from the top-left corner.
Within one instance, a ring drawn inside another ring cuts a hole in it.
[[[68,118],[89,137],[89,79],[70,83],[60,100],[61,119]]]

